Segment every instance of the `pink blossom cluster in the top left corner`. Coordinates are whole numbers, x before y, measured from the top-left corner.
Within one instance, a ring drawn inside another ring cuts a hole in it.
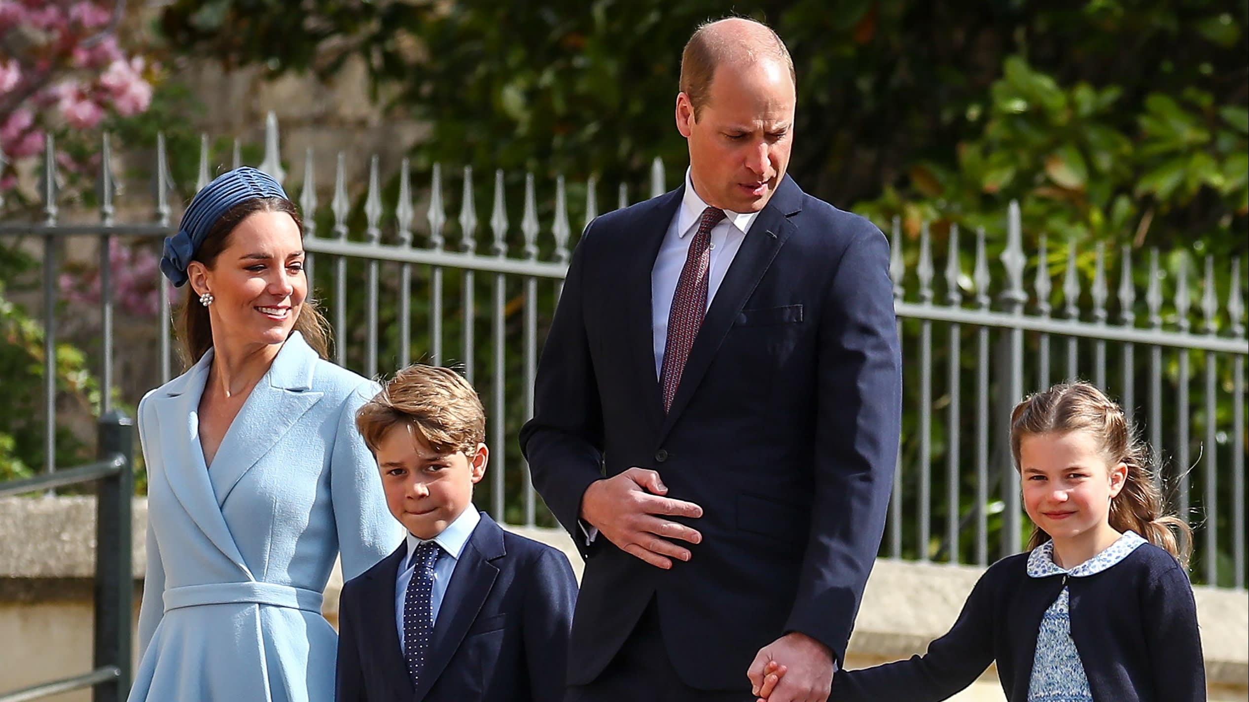
[[[122,49],[125,0],[0,0],[0,154],[31,157],[45,135],[82,135],[151,104],[154,66]],[[2,161],[0,161],[2,162]],[[62,160],[75,170],[82,164]],[[0,192],[11,189],[11,165]]]

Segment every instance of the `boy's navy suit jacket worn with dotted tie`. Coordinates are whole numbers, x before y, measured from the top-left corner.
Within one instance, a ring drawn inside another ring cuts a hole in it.
[[[482,513],[451,575],[413,690],[395,623],[407,545],[338,601],[338,702],[547,702],[565,690],[577,581],[568,558]]]

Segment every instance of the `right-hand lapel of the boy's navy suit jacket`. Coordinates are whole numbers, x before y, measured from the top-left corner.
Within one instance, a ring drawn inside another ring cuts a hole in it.
[[[460,553],[460,562],[451,575],[451,582],[447,583],[447,593],[442,598],[438,620],[433,625],[430,657],[425,661],[425,670],[417,685],[416,702],[428,695],[430,688],[446,670],[465,635],[468,633],[468,627],[481,612],[486,597],[490,596],[495,578],[498,577],[498,566],[491,561],[506,555],[503,530],[488,515],[482,513],[481,521],[468,537],[468,543]]]

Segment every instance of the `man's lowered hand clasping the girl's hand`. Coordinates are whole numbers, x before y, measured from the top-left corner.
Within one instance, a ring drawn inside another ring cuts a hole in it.
[[[771,695],[762,695],[766,675],[774,672],[768,665],[776,662],[783,667]],[[772,643],[759,648],[754,662],[746,671],[751,678],[754,695],[766,697],[768,702],[826,702],[833,686],[833,673],[837,663],[827,646],[814,638],[789,632]]]

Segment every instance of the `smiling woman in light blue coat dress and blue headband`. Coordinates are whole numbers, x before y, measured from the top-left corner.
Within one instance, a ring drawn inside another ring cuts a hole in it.
[[[351,578],[402,538],[355,430],[376,386],[323,360],[302,225],[267,175],[201,190],[161,270],[191,284],[194,366],[139,405],[147,576],[130,700],[330,702],[335,557]]]

